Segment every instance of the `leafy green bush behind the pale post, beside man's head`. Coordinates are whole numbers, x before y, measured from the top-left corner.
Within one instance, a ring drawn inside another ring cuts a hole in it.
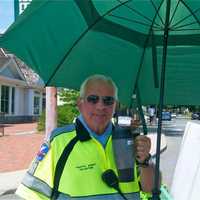
[[[76,108],[76,106],[64,104],[57,107],[57,113],[58,113],[58,127],[71,124],[73,123],[73,120],[75,117],[79,115],[79,111]],[[38,131],[44,131],[45,130],[45,111],[42,112],[42,115],[39,118],[38,122]]]

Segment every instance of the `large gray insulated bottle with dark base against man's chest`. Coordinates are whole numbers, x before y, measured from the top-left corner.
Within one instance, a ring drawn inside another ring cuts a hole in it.
[[[134,181],[134,144],[129,128],[116,124],[113,131],[113,152],[120,182]]]

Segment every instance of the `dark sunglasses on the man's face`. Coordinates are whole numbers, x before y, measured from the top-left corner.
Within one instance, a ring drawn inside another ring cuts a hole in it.
[[[86,99],[87,99],[87,102],[91,104],[97,104],[101,99],[104,106],[111,106],[115,102],[115,98],[112,96],[89,95],[86,97]]]

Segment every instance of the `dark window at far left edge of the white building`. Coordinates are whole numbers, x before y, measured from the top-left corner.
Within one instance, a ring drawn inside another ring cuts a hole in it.
[[[1,112],[9,113],[9,86],[1,86]]]

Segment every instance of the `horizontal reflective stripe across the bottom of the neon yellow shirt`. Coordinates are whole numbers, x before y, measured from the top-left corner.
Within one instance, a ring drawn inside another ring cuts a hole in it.
[[[140,200],[139,192],[124,194],[129,200]],[[119,193],[116,194],[105,194],[96,196],[86,196],[86,197],[70,197],[69,195],[60,193],[57,200],[124,200]]]

